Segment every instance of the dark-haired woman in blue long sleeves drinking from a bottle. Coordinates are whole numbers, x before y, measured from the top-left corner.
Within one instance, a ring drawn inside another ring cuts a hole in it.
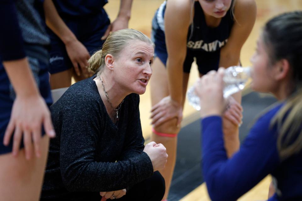
[[[271,93],[279,102],[258,118],[229,159],[221,131],[223,69],[203,76],[196,89],[209,195],[213,201],[237,200],[271,174],[276,193],[270,201],[302,200],[302,12],[269,20],[251,62],[251,88]]]

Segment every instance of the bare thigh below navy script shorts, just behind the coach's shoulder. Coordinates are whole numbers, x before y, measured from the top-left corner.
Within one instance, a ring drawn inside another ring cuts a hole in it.
[[[64,87],[70,87],[71,85],[71,76],[73,68],[68,70],[53,73],[50,76],[50,87],[51,89],[59,89]]]

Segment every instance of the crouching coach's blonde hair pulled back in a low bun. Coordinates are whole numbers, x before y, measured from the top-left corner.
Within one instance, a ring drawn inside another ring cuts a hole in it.
[[[101,50],[95,52],[88,60],[88,71],[92,73],[102,73],[105,65],[105,57],[111,54],[113,57],[119,56],[122,49],[129,41],[143,41],[154,46],[154,43],[142,32],[134,29],[122,29],[111,33],[103,44]]]

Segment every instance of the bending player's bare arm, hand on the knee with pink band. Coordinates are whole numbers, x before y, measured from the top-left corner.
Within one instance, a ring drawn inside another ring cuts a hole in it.
[[[154,126],[172,118],[182,120],[183,62],[187,54],[187,32],[190,25],[191,1],[169,0],[165,10],[165,41],[168,52],[167,73],[170,96],[153,106]],[[154,120],[155,119],[155,120]]]

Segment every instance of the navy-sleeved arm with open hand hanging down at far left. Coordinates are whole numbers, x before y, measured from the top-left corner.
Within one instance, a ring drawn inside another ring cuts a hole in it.
[[[14,134],[13,155],[16,156],[23,137],[25,156],[26,159],[30,159],[33,149],[37,157],[41,155],[39,142],[42,125],[50,137],[54,137],[55,134],[50,112],[37,89],[29,63],[25,58],[16,12],[14,1],[0,2],[0,24],[1,27],[5,27],[5,31],[0,32],[0,57],[16,92],[3,144],[8,145]]]

